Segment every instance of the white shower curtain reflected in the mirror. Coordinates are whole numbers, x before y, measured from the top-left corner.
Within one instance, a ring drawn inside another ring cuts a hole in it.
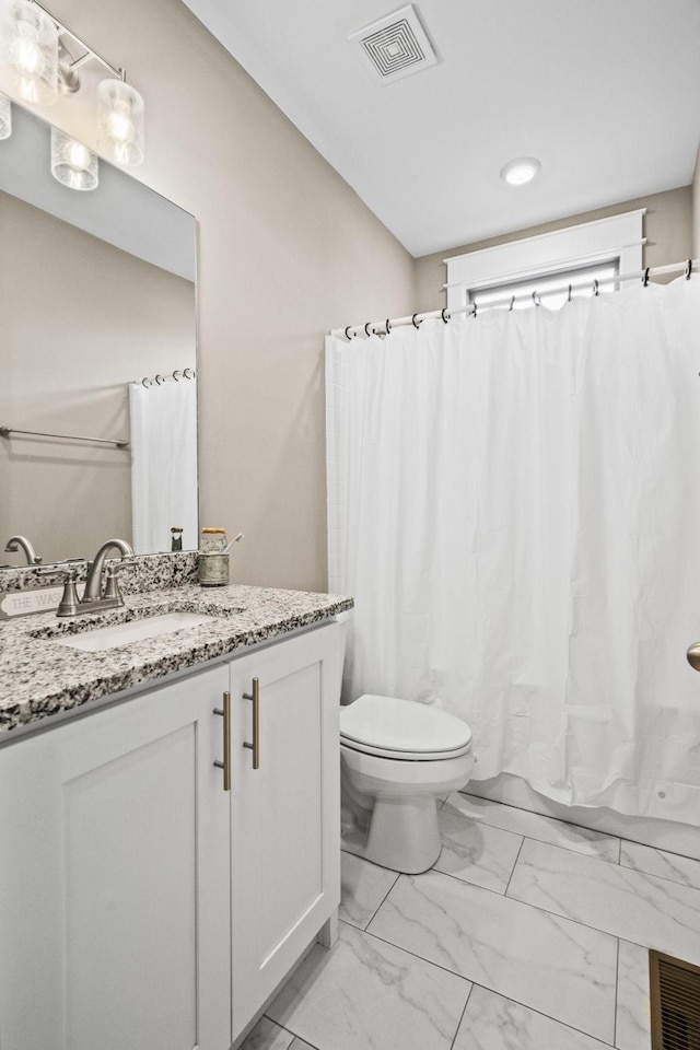
[[[137,555],[171,549],[171,528],[183,548],[197,535],[197,384],[195,380],[129,384],[131,517]]]

